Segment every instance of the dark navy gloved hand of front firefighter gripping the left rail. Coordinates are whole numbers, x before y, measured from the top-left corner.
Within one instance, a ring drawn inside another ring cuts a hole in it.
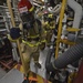
[[[21,30],[20,28],[11,28],[10,29],[10,37],[13,40],[17,40],[21,37]]]

